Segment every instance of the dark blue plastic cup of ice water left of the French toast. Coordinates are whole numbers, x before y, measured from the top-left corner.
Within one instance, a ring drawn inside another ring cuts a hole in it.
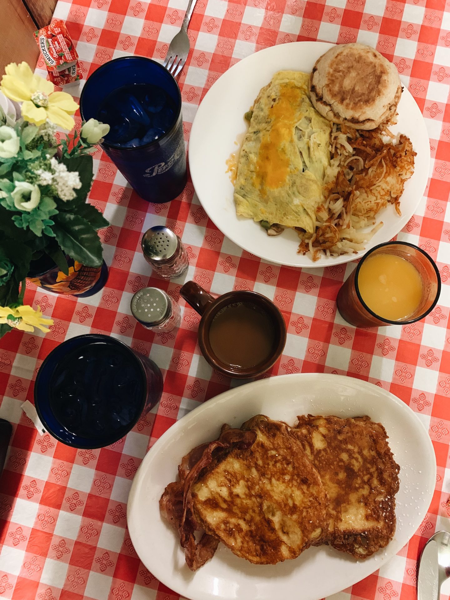
[[[117,442],[163,393],[157,365],[123,342],[102,334],[59,344],[42,363],[34,404],[44,428],[74,448]]]

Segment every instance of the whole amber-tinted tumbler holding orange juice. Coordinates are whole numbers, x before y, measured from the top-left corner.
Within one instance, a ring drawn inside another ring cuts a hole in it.
[[[434,260],[413,244],[387,242],[359,261],[338,292],[337,307],[355,327],[405,325],[427,316],[439,294]]]

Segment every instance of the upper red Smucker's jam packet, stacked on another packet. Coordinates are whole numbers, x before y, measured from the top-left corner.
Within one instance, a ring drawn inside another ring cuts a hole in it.
[[[63,20],[56,19],[35,31],[34,37],[49,73],[67,70],[76,64],[78,54]]]

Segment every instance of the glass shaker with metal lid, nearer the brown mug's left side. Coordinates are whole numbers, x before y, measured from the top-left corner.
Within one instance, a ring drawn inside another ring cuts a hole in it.
[[[172,331],[181,323],[179,304],[157,287],[144,287],[131,298],[131,314],[147,329]]]

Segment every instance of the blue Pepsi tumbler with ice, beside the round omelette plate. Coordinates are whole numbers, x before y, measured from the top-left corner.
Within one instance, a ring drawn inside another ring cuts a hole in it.
[[[110,125],[101,147],[137,194],[169,202],[187,179],[181,93],[158,62],[124,56],[88,78],[80,98],[85,121]]]

